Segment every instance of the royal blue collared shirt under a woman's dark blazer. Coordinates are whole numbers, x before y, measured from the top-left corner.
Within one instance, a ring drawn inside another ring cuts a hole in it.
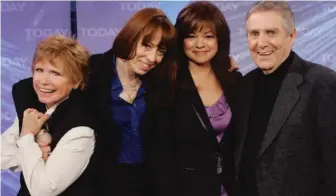
[[[143,143],[139,129],[145,112],[145,91],[141,85],[133,104],[120,98],[123,87],[115,69],[115,61],[113,66],[116,75],[112,79],[111,111],[117,127],[121,130],[119,163],[142,163]]]

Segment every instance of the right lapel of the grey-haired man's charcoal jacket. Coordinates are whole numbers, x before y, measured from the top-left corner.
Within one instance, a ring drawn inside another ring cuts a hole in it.
[[[274,103],[258,158],[264,154],[266,149],[279,134],[282,126],[285,124],[294,107],[300,100],[301,93],[299,91],[299,86],[303,83],[302,62],[303,60],[295,54],[293,62],[289,67],[288,74],[281,85],[278,97]]]

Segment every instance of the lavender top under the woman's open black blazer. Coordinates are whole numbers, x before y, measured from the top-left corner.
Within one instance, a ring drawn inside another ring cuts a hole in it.
[[[205,109],[211,125],[215,129],[217,141],[220,142],[232,118],[229,104],[226,102],[225,96],[222,95],[214,105],[205,107]],[[227,196],[223,185],[221,186],[220,196]]]

